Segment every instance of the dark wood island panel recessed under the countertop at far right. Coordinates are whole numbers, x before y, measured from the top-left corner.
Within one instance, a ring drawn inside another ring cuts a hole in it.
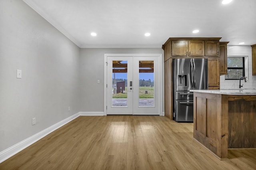
[[[228,101],[228,148],[256,148],[256,99],[233,96]],[[236,99],[236,100],[234,100]]]

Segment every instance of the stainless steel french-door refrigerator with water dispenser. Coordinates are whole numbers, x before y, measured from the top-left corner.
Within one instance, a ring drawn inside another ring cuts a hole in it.
[[[173,59],[173,119],[193,122],[193,92],[208,89],[208,59]]]

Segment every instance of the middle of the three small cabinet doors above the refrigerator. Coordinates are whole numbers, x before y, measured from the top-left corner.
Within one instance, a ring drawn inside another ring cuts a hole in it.
[[[188,41],[189,56],[204,56],[204,41]]]

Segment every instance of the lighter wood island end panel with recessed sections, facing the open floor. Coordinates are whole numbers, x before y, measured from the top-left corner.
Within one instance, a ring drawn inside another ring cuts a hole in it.
[[[227,146],[221,144],[228,140],[228,129],[221,129],[221,101],[221,95],[194,92],[194,138],[219,158],[227,158]]]

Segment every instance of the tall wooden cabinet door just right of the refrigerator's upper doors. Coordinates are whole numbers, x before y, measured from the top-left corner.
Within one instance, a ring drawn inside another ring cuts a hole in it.
[[[208,86],[220,86],[220,67],[218,58],[208,58]]]

